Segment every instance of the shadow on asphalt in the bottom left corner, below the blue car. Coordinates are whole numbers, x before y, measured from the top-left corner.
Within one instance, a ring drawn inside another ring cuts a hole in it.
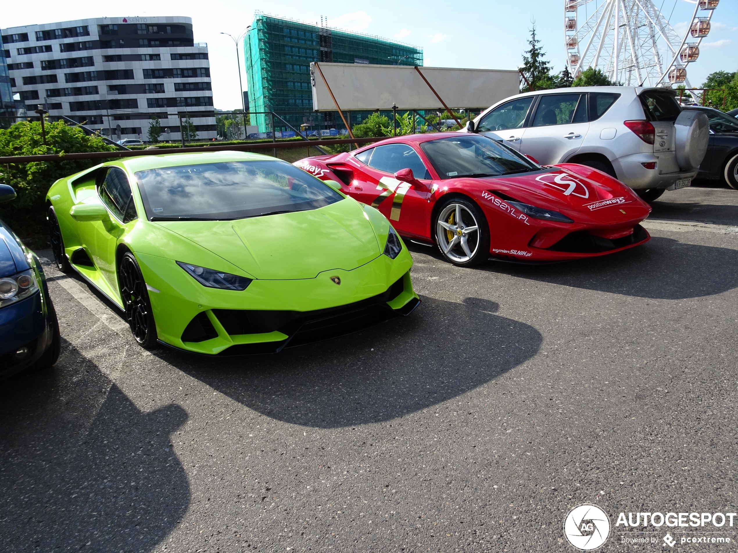
[[[2,550],[153,550],[190,504],[170,448],[187,414],[142,413],[66,341],[61,361],[2,383]]]

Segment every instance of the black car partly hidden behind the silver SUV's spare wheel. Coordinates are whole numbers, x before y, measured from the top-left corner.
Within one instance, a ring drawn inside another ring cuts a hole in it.
[[[707,155],[700,164],[700,178],[720,179],[738,190],[738,119],[715,108],[694,105],[710,120],[710,140]]]

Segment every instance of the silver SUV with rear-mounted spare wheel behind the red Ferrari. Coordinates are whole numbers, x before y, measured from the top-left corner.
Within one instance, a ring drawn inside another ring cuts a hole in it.
[[[518,94],[477,116],[484,133],[544,165],[578,163],[646,201],[689,186],[707,151],[708,123],[663,88],[591,86]]]

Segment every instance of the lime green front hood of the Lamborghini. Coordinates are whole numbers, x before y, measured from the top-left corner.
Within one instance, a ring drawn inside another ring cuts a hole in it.
[[[351,271],[382,254],[373,227],[351,199],[311,211],[156,224],[257,279],[312,279],[330,269]]]

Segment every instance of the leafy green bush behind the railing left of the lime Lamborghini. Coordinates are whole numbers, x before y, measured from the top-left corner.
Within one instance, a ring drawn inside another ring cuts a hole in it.
[[[85,153],[116,150],[100,136],[87,136],[79,127],[63,121],[46,122],[46,145],[41,122],[19,122],[0,129],[0,156],[37,156],[46,153]],[[49,187],[59,178],[77,173],[103,159],[61,159],[0,164],[0,182],[15,188],[18,198],[0,205],[0,218],[14,226],[21,236],[46,233],[44,199]]]

